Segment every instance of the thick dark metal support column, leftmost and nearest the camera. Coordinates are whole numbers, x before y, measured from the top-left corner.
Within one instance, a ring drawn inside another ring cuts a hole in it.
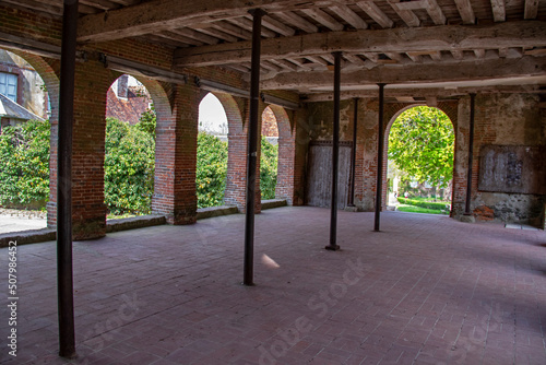
[[[57,286],[59,355],[75,357],[72,276],[72,127],[78,0],[64,0],[62,15],[59,139],[57,165]]]

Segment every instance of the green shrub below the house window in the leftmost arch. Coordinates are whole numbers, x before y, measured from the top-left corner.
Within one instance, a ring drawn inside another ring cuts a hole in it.
[[[4,127],[0,134],[0,204],[45,208],[49,197],[47,120]]]

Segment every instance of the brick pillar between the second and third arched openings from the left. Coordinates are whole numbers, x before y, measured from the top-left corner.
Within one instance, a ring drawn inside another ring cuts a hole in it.
[[[197,146],[200,89],[177,85],[171,116],[157,110],[155,187],[152,211],[170,224],[197,220]],[[167,105],[163,106],[166,108]]]

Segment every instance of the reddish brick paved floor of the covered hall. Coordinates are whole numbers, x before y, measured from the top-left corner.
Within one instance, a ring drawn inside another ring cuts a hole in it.
[[[332,252],[329,216],[257,215],[253,287],[240,214],[74,243],[73,363],[546,364],[544,232],[385,212],[375,233],[372,213],[339,212]],[[55,256],[55,243],[19,247],[17,358],[2,305],[0,363],[68,363]]]

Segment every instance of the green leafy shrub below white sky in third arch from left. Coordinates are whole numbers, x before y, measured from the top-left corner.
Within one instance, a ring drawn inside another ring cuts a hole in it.
[[[227,142],[199,132],[197,165],[198,208],[222,205],[226,189]]]

